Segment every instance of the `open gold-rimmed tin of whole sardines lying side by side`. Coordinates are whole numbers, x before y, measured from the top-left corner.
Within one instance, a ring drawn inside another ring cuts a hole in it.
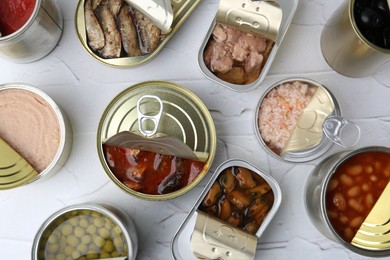
[[[80,0],[77,33],[84,48],[104,64],[137,66],[158,54],[199,2]]]

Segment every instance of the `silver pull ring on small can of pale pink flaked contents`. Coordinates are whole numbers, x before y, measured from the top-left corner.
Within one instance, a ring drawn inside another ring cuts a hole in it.
[[[323,132],[328,139],[344,148],[355,146],[360,139],[359,126],[341,116],[327,117],[324,121]]]

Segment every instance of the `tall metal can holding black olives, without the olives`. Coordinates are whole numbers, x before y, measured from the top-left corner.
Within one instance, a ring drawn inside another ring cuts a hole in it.
[[[327,21],[321,34],[321,50],[336,72],[365,77],[390,61],[390,49],[370,42],[359,30],[354,15],[356,2],[344,0]]]

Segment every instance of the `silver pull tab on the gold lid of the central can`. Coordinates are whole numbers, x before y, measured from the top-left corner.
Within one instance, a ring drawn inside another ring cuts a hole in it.
[[[157,114],[145,115],[144,113],[142,113],[140,106],[141,106],[142,101],[145,99],[157,100],[157,102],[159,103],[159,106],[160,106],[160,109],[159,109]],[[137,102],[138,128],[139,128],[139,131],[141,132],[141,134],[143,134],[146,137],[150,137],[157,132],[158,124],[159,124],[160,119],[161,119],[162,110],[163,110],[163,103],[162,103],[161,99],[157,96],[144,95],[138,100],[138,102]],[[152,128],[147,129],[146,125],[147,126],[152,125]]]

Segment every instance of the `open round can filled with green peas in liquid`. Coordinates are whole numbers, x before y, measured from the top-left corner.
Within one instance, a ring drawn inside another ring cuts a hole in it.
[[[32,259],[133,260],[137,250],[137,230],[128,214],[112,205],[79,204],[59,210],[42,224]]]

